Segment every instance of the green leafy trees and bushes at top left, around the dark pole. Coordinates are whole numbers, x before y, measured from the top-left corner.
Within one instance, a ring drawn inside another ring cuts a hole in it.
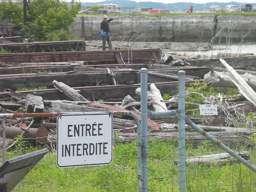
[[[23,24],[23,1],[0,3],[0,19],[21,27],[24,38],[35,38],[40,41],[70,40],[74,35],[69,26],[75,21],[81,3],[72,0],[70,6],[60,0],[29,1],[28,19]]]

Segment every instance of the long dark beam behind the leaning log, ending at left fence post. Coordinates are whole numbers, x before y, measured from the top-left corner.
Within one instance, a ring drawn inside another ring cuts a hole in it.
[[[99,84],[96,84],[95,77],[98,78]],[[115,78],[119,84],[138,83],[136,71],[118,71]],[[71,87],[113,84],[108,70],[106,70],[105,72],[5,74],[0,75],[0,87],[2,89],[53,87],[52,82],[54,80],[68,84]]]

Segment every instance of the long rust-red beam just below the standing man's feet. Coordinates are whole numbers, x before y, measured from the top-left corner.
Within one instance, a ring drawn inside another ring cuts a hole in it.
[[[161,58],[160,49],[144,50],[113,50],[113,51],[68,51],[42,53],[8,53],[0,54],[0,62],[70,62],[87,61],[89,64],[117,62],[116,53],[119,53],[126,63],[136,61],[156,62]],[[120,62],[120,61],[119,61]]]

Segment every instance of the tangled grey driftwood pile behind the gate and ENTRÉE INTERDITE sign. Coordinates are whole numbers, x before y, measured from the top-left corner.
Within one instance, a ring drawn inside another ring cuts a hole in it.
[[[108,70],[109,74],[113,78],[113,82],[115,82],[115,74]],[[84,98],[82,95],[79,94],[79,91],[74,90],[67,86],[65,83],[53,81],[53,86],[58,89],[59,91],[65,93],[69,98],[71,98],[73,101],[67,101],[67,100],[43,100],[40,96],[34,96],[34,95],[20,95],[16,92],[13,92],[11,90],[9,91],[12,95],[12,99],[16,100],[17,103],[12,102],[1,102],[1,113],[13,113],[11,110],[11,105],[13,108],[17,108],[18,106],[25,105],[24,110],[15,111],[18,112],[25,112],[25,113],[38,113],[38,112],[100,112],[100,111],[116,111],[119,109],[119,111],[123,110],[130,110],[133,113],[139,114],[139,106],[140,102],[140,88],[136,90],[136,94],[138,97],[138,100],[133,99],[130,95],[127,95],[122,102],[91,102],[88,99]],[[150,91],[148,92],[148,108],[152,109],[154,111],[167,111],[169,109],[177,108],[178,99],[172,98],[168,101],[163,101],[161,97],[160,91],[157,89],[155,84],[151,84]],[[248,93],[244,93],[248,94]],[[251,97],[250,97],[251,98]],[[256,98],[256,97],[255,97]],[[234,121],[234,119],[237,120],[237,117],[243,117],[244,114],[238,112],[239,106],[235,108],[234,106],[230,106],[228,103],[224,103],[221,101],[221,96],[219,98],[204,98],[206,102],[208,103],[217,103],[219,106],[221,106],[221,109],[223,110],[224,114],[226,114],[226,121],[221,122],[218,121],[219,125],[216,124],[216,127],[212,126],[204,126],[203,129],[207,131],[210,135],[214,136],[218,140],[220,140],[225,145],[236,145],[237,143],[241,145],[246,145],[248,147],[254,147],[255,143],[253,143],[248,137],[254,133],[256,133],[256,130],[254,129],[236,129],[237,125],[241,125],[241,123],[244,122],[237,122]],[[195,104],[195,103],[194,103]],[[225,105],[227,104],[227,105]],[[8,109],[5,109],[5,106],[8,105]],[[167,106],[168,105],[168,106]],[[230,110],[231,108],[231,110]],[[233,113],[231,113],[232,111]],[[236,116],[237,115],[237,116]],[[214,124],[214,122],[217,122],[218,117],[214,118],[205,118],[205,122],[208,122],[209,124]],[[30,125],[31,127],[39,127],[39,126],[45,126],[49,132],[48,135],[48,142],[51,144],[56,143],[56,119],[40,119],[40,118],[26,118],[26,119],[15,119],[10,120],[8,123],[9,125],[17,125],[18,123],[26,123],[27,126]],[[199,119],[192,119],[197,124],[202,123]],[[157,117],[152,118],[150,121],[148,121],[148,136],[150,139],[157,139],[161,138],[165,141],[168,140],[178,140],[178,116],[172,116],[172,117]],[[233,127],[223,127],[224,124],[227,124],[229,126]],[[134,120],[127,119],[126,117],[114,117],[114,129],[115,131],[119,132],[119,140],[122,142],[131,142],[136,139],[136,132],[137,132],[137,125]],[[205,140],[205,138],[195,133],[193,130],[191,130],[191,127],[186,126],[186,142],[193,144],[194,148],[197,148],[202,144],[202,142]],[[245,154],[246,156],[246,154]],[[201,161],[202,159],[199,160]],[[213,157],[210,157],[213,158]],[[194,157],[194,159],[197,159]],[[207,159],[207,158],[206,158]],[[214,158],[213,158],[214,159]],[[227,157],[229,159],[229,157]],[[187,162],[191,162],[188,160]],[[207,160],[206,160],[207,162]]]

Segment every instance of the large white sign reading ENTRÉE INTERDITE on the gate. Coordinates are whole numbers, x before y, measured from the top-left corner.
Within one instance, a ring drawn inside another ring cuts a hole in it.
[[[57,118],[59,167],[110,164],[113,116],[109,113],[63,114]]]

